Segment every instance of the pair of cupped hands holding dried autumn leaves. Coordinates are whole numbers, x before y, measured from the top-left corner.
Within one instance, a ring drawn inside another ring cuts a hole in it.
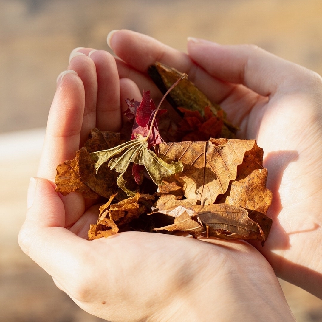
[[[128,30],[106,51],[77,48],[57,79],[37,178],[28,189],[23,251],[81,308],[110,321],[294,321],[276,276],[322,298],[322,80],[253,45],[189,38],[187,54]],[[56,166],[92,128],[118,131],[125,99],[160,92],[147,76],[159,61],[188,74],[227,112],[239,138],[264,150],[273,192],[264,247],[122,232],[87,241],[97,209],[61,196]]]

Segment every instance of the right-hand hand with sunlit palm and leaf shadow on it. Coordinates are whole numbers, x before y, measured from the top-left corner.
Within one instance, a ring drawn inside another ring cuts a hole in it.
[[[148,66],[175,67],[221,105],[240,127],[239,138],[257,140],[273,192],[273,225],[264,247],[253,244],[279,277],[322,298],[321,77],[251,45],[191,39],[185,54],[127,30],[110,33],[108,43],[122,59],[120,77],[155,89],[157,97]]]

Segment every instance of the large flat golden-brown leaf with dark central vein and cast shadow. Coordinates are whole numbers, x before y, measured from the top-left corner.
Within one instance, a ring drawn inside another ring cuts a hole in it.
[[[246,151],[254,147],[257,147],[255,140],[211,139],[162,143],[158,146],[158,154],[165,160],[183,163],[184,171],[173,177],[183,185],[187,199],[213,204],[236,178],[237,166],[242,163]]]

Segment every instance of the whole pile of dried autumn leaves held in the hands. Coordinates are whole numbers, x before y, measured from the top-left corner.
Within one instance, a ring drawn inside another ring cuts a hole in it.
[[[171,90],[173,110],[156,108],[149,91],[127,100],[122,131],[93,129],[76,157],[57,166],[56,191],[102,204],[90,240],[136,230],[264,242],[272,193],[262,149],[234,139],[237,128],[185,75],[160,63],[148,73],[164,94]]]

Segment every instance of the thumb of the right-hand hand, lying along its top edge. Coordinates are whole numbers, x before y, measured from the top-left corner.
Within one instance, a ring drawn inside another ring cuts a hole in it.
[[[213,77],[243,84],[262,96],[289,86],[287,80],[298,77],[301,68],[255,45],[220,45],[188,38],[188,54]]]

